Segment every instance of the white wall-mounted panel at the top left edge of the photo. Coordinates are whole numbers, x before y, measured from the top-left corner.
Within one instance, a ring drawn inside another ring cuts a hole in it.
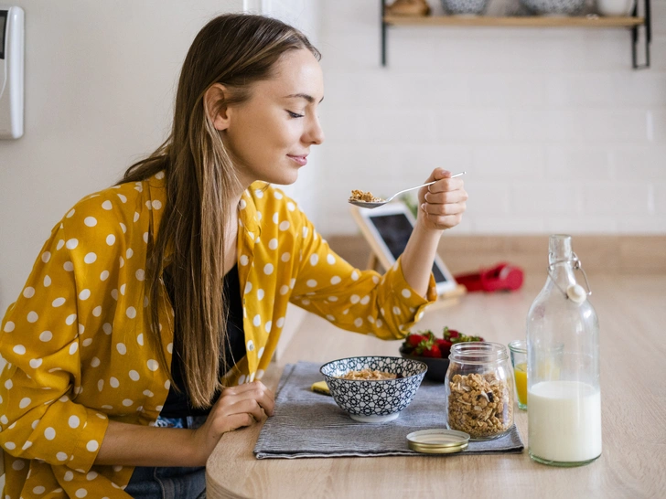
[[[24,17],[0,5],[0,139],[23,135]]]

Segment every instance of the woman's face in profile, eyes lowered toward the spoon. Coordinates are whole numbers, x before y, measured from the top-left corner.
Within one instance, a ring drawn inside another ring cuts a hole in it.
[[[292,184],[310,146],[324,141],[317,106],[324,79],[309,50],[286,52],[272,80],[252,84],[251,98],[227,109],[223,140],[244,186],[255,180]]]

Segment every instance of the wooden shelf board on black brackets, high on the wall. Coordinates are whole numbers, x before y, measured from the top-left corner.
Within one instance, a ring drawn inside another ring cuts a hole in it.
[[[384,16],[390,26],[449,26],[449,27],[638,27],[643,17],[602,16]]]

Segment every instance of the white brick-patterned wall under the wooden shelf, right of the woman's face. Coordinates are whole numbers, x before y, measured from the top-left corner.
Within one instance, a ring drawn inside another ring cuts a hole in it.
[[[638,71],[625,28],[392,27],[381,68],[379,4],[324,3],[322,231],[356,231],[352,188],[444,166],[470,195],[451,234],[666,232],[666,0]]]

